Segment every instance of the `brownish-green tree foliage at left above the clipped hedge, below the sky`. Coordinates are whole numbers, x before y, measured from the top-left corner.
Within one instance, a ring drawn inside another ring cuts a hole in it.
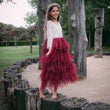
[[[0,41],[9,42],[10,40],[28,40],[35,37],[37,26],[30,26],[28,28],[17,28],[9,24],[0,23]]]

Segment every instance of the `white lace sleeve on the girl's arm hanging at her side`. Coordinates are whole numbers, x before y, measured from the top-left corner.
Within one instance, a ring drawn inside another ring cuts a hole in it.
[[[53,42],[53,30],[51,21],[47,22],[47,49],[52,47]]]

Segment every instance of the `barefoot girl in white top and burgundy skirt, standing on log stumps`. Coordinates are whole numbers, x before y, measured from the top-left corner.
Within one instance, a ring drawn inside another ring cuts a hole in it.
[[[44,98],[44,89],[53,90],[52,99],[57,97],[59,86],[78,80],[76,65],[69,53],[69,44],[63,38],[59,23],[60,6],[53,3],[48,7],[45,20],[45,43],[40,58],[42,72],[40,74],[40,97]]]

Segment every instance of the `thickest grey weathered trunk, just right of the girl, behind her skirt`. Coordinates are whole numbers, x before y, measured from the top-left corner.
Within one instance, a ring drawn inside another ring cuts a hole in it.
[[[86,77],[87,36],[84,0],[68,0],[68,33],[70,53],[74,55],[79,79]]]

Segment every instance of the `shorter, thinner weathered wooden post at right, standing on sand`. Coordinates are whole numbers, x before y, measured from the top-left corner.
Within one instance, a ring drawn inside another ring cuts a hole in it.
[[[104,8],[96,8],[94,10],[95,20],[95,58],[102,58],[102,34],[104,27]]]

